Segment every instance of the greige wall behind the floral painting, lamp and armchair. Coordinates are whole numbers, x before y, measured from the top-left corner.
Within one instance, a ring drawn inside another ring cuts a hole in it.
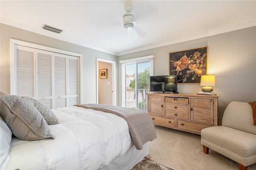
[[[118,61],[155,55],[154,75],[168,75],[170,52],[203,46],[208,46],[208,74],[216,76],[214,92],[220,94],[220,123],[224,109],[230,102],[256,100],[256,27],[122,55]],[[120,77],[119,68],[118,91],[121,100]],[[200,84],[178,84],[180,93],[198,93],[201,88]]]

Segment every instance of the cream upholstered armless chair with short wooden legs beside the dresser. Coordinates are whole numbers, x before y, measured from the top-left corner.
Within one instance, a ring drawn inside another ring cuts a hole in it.
[[[202,129],[204,153],[209,148],[238,162],[240,170],[256,163],[256,126],[252,106],[246,102],[231,102],[225,109],[222,126]]]

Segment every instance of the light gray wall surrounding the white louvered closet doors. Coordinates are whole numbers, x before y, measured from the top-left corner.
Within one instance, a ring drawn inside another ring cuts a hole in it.
[[[117,57],[94,49],[2,24],[0,25],[0,90],[10,94],[10,38],[83,55],[83,103],[96,103],[96,58],[116,61]],[[117,69],[116,64],[116,69]],[[116,84],[117,86],[117,84]],[[118,94],[118,93],[116,93]]]

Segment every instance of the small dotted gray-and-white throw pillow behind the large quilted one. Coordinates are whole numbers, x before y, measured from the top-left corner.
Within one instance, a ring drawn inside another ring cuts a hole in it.
[[[26,96],[22,96],[22,98],[28,100],[28,102],[32,103],[36,107],[36,109],[38,109],[48,125],[54,125],[59,123],[56,115],[48,107],[38,102],[38,100]]]

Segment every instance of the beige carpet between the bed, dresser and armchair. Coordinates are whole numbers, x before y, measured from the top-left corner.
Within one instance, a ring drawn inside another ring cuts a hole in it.
[[[209,149],[204,154],[200,135],[155,125],[157,139],[146,156],[176,170],[238,170],[233,160]],[[248,166],[256,170],[256,164]]]

